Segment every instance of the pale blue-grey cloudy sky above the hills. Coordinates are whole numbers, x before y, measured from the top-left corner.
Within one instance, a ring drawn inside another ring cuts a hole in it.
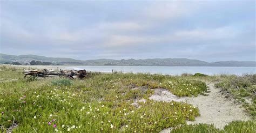
[[[255,1],[0,0],[0,53],[255,61]]]

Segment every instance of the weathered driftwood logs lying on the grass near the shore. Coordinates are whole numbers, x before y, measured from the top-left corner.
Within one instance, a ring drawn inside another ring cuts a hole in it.
[[[68,78],[84,78],[87,77],[87,72],[86,70],[48,70],[48,69],[43,69],[43,70],[25,70],[23,69],[24,73],[24,79],[26,78],[27,75],[35,77],[48,77],[48,76],[65,76]]]

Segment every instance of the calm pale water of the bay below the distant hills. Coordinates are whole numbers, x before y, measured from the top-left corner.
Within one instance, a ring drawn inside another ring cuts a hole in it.
[[[256,67],[154,67],[154,66],[79,66],[66,67],[65,69],[85,69],[86,71],[111,72],[112,69],[118,72],[133,73],[157,73],[164,75],[181,75],[182,73],[205,73],[206,75],[234,74],[242,75],[244,73],[255,74]]]

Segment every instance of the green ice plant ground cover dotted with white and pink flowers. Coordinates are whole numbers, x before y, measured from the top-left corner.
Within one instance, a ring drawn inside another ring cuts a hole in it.
[[[149,100],[153,89],[165,88],[179,97],[197,97],[207,92],[206,84],[198,79],[219,80],[218,77],[98,73],[66,84],[67,79],[59,78],[24,80],[21,69],[5,65],[0,68],[0,130],[18,124],[13,132],[159,132],[180,127],[186,125],[186,120],[193,121],[200,115],[198,108],[182,102]],[[14,77],[17,80],[12,80]],[[140,99],[146,101],[139,102],[139,107],[132,105]],[[254,130],[250,122],[238,123],[242,123],[241,128]],[[192,129],[219,131],[211,125],[186,125],[176,132]]]

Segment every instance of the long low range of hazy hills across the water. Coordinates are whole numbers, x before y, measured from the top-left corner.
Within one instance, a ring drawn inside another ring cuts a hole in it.
[[[146,66],[205,66],[205,67],[256,67],[255,61],[221,61],[221,62],[205,62],[199,60],[190,60],[187,58],[153,58],[145,60],[75,60],[73,58],[45,57],[38,55],[6,55],[0,54],[0,63],[19,62],[22,64],[30,61],[52,62],[62,65],[146,65]]]

